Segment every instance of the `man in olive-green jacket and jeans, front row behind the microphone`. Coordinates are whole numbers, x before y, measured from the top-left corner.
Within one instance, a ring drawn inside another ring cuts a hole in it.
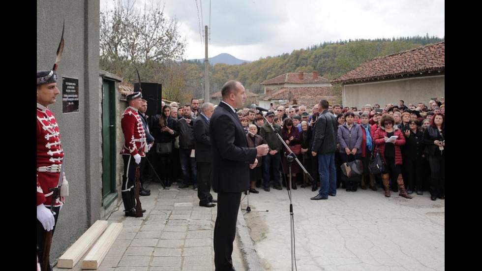
[[[268,112],[266,114],[266,119],[272,123],[274,119],[274,113]],[[270,171],[271,167],[274,168],[273,176],[273,188],[281,190],[281,185],[279,184],[279,162],[281,161],[281,156],[279,151],[283,147],[276,133],[271,129],[270,123],[266,122],[261,126],[260,136],[263,138],[263,144],[268,144],[270,147],[270,152],[266,155],[263,161],[263,186],[266,192],[270,191]],[[281,136],[281,126],[273,123],[274,129]]]

